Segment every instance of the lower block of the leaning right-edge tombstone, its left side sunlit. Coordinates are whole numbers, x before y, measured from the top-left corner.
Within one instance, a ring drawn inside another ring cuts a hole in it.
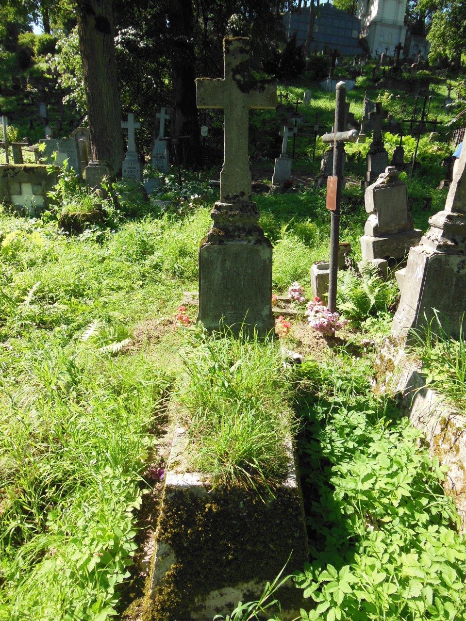
[[[431,320],[436,309],[441,320],[442,315],[447,318],[452,337],[459,338],[465,290],[466,253],[439,253],[425,243],[411,248],[391,333],[408,336],[409,329]]]

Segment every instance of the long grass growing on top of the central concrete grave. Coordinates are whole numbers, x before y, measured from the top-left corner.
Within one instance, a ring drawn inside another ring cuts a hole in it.
[[[290,464],[292,394],[275,340],[195,335],[176,393],[190,428],[191,468],[221,486],[276,484]]]

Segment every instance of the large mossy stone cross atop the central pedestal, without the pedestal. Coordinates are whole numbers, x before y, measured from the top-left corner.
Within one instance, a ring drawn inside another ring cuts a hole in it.
[[[224,40],[224,78],[196,79],[198,108],[224,111],[224,162],[220,201],[250,201],[249,110],[276,107],[276,87],[252,78],[244,37]]]

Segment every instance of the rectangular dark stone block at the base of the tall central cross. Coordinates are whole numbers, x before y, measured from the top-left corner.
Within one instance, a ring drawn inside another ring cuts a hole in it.
[[[199,315],[208,330],[222,325],[265,337],[272,333],[272,245],[241,239],[206,243],[199,250]]]

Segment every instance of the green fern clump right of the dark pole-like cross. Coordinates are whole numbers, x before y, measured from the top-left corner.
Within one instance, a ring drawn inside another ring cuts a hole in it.
[[[339,272],[337,307],[344,317],[355,322],[387,311],[398,297],[393,279],[384,281],[377,266],[363,261],[361,274],[352,270]]]

